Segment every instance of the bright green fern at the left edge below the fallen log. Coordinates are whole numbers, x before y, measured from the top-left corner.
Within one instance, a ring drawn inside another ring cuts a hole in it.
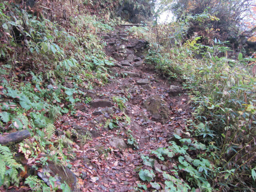
[[[0,186],[10,186],[14,184],[15,186],[19,185],[20,177],[18,176],[18,170],[21,169],[24,171],[24,167],[21,164],[18,164],[14,160],[10,149],[6,146],[0,144]],[[6,170],[8,166],[8,170]]]

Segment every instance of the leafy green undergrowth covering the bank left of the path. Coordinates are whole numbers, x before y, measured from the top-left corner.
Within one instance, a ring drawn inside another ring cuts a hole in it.
[[[37,7],[23,8],[14,1],[0,2],[0,134],[27,129],[31,138],[18,146],[27,160],[45,154],[34,162],[39,167],[48,162],[70,166],[72,138],[90,138],[78,137],[75,130],[59,136],[54,122],[63,114],[76,114],[76,103],[89,100],[86,90],[108,82],[113,64],[98,33],[114,30],[118,20],[69,12],[69,22],[63,24],[50,18],[45,6],[39,12]],[[7,146],[0,145],[0,159],[6,162],[1,164],[0,186],[18,186],[24,168]],[[37,176],[25,183],[34,191],[70,191],[66,184],[56,188],[54,179],[49,179],[51,188]]]

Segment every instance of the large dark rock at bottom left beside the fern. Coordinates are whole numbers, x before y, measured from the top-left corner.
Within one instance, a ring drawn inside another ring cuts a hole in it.
[[[77,192],[76,188],[76,176],[75,174],[65,166],[59,166],[53,163],[48,163],[47,166],[44,166],[37,175],[42,178],[42,180],[50,186],[50,176],[53,176],[56,179],[55,184],[60,186],[62,183],[66,182],[70,186],[71,190]]]

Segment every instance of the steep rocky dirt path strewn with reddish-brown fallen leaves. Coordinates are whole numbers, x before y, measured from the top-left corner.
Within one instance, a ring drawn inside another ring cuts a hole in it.
[[[182,134],[191,113],[189,98],[181,88],[170,90],[167,80],[148,69],[143,60],[146,41],[129,37],[125,28],[102,37],[106,53],[116,60],[110,69],[114,78],[88,91],[92,102],[78,104],[76,119],[64,116],[60,126],[92,135],[70,163],[71,170],[82,176],[78,191],[128,192],[140,182],[141,155],[167,146],[174,132]],[[122,111],[118,104],[124,98],[128,101]]]

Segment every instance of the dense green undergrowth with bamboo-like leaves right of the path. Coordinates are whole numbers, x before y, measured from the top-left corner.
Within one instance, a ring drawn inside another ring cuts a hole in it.
[[[256,80],[252,67],[255,59],[243,58],[242,53],[236,58],[229,57],[232,50],[225,46],[228,42],[218,39],[212,40],[212,46],[200,44],[200,36],[185,41],[182,34],[186,34],[186,22],[160,28],[158,38],[151,40],[146,63],[164,78],[182,82],[183,88],[190,92],[194,120],[188,122],[187,131],[206,144],[208,153],[202,151],[201,156],[212,164],[211,174],[205,177],[209,188],[254,191]],[[194,176],[189,177],[186,179],[191,184]],[[207,191],[202,183],[196,185]]]

